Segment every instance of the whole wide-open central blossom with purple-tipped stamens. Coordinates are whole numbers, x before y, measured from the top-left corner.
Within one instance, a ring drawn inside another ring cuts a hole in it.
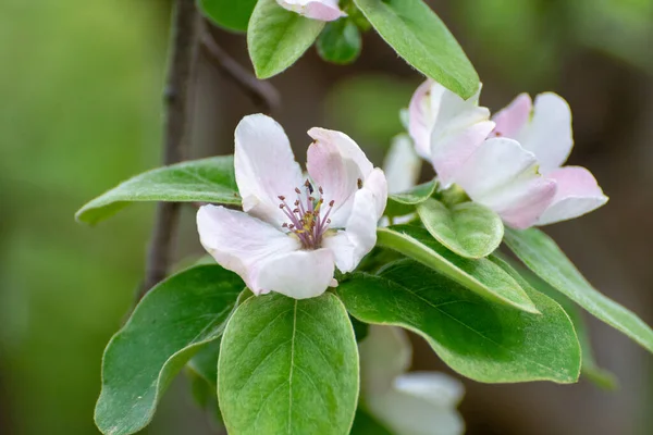
[[[235,133],[235,176],[243,211],[204,206],[205,249],[256,295],[316,297],[337,266],[350,272],[377,243],[387,199],[385,176],[340,132],[311,128],[308,178],[281,125],[245,116]]]

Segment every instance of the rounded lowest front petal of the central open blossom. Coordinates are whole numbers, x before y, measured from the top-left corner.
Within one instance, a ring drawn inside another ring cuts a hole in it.
[[[315,298],[332,284],[334,269],[329,249],[279,254],[261,265],[257,286],[295,299]]]

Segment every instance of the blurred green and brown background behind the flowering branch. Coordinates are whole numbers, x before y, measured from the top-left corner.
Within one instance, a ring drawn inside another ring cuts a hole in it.
[[[496,110],[520,91],[555,90],[575,113],[571,163],[590,167],[609,204],[551,234],[605,294],[653,324],[653,1],[432,1]],[[97,228],[76,224],[85,201],[159,162],[170,3],[0,2],[0,433],[95,434],[100,360],[144,269],[153,208]],[[215,30],[244,65],[242,36]],[[352,66],[315,50],[272,83],[276,115],[297,152],[313,125],[341,128],[380,162],[401,130],[397,110],[421,78],[373,33]],[[254,104],[200,61],[194,157],[229,153]],[[178,259],[199,252],[185,210]],[[575,386],[466,382],[469,434],[651,434],[653,357],[597,322],[607,393]],[[445,370],[423,345],[416,366]],[[150,434],[210,434],[183,380]]]

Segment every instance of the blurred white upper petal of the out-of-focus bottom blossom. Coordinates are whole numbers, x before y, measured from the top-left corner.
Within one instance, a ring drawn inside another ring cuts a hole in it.
[[[394,386],[397,390],[447,408],[456,407],[465,395],[460,381],[438,372],[410,372],[398,376]]]

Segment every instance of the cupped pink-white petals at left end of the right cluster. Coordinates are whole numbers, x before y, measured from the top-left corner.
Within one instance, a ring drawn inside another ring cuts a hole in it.
[[[458,167],[483,142],[494,123],[479,107],[479,91],[468,100],[428,79],[417,88],[408,108],[408,133],[419,156],[430,161],[447,187]]]

